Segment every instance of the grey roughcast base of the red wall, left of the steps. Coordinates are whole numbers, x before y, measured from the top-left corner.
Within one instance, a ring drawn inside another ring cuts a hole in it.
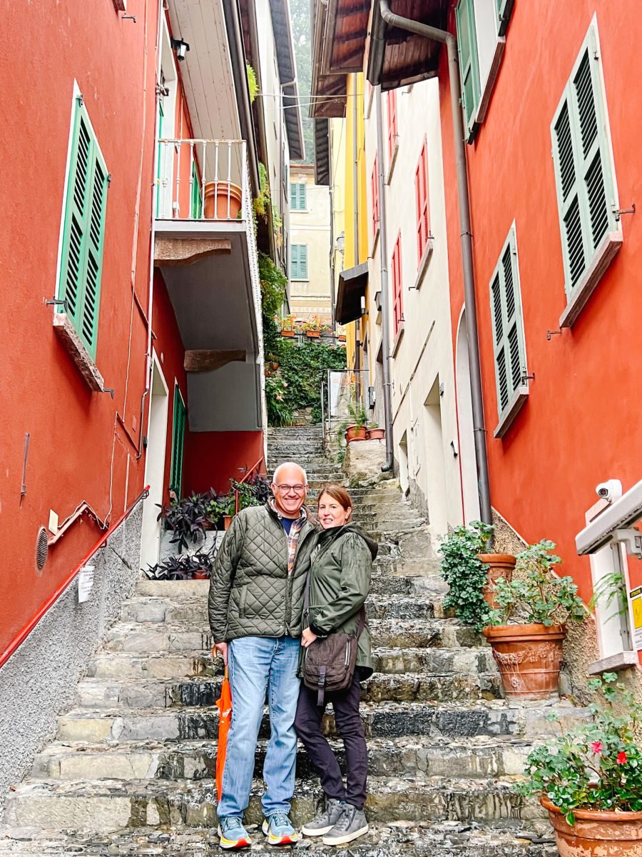
[[[0,668],[0,818],[8,788],[21,781],[74,703],[76,685],[105,630],[140,575],[142,504],[94,557],[92,596],[78,603],[77,579]]]

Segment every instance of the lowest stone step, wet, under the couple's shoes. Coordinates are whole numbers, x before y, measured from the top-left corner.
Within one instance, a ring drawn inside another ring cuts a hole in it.
[[[552,832],[542,825],[544,836],[534,827],[515,821],[506,828],[482,827],[461,822],[403,821],[371,824],[361,836],[339,852],[342,857],[557,857]],[[271,854],[256,827],[250,830],[252,854]],[[153,830],[139,828],[119,834],[83,831],[12,830],[3,838],[0,829],[0,854],[11,857],[96,857],[106,854],[157,854],[163,857],[205,857],[218,853],[215,830]],[[295,850],[310,857],[330,857],[336,848],[318,839],[304,839]]]

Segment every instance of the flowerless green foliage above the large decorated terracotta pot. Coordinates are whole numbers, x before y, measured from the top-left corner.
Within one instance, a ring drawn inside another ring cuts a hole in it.
[[[542,539],[517,554],[513,580],[508,583],[499,578],[493,587],[495,608],[490,611],[489,625],[538,623],[550,627],[585,618],[586,608],[574,579],[552,573],[562,562],[552,553],[555,547],[555,542]]]

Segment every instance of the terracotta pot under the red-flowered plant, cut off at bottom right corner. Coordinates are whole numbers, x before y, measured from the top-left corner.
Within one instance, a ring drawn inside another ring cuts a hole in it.
[[[546,797],[541,800],[555,830],[560,857],[642,857],[642,812],[577,810],[575,824]]]

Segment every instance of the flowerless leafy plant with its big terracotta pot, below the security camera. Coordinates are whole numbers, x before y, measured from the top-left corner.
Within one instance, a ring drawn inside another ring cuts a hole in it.
[[[508,698],[545,699],[557,692],[565,623],[586,615],[573,578],[551,573],[562,561],[553,548],[548,539],[526,548],[516,557],[522,578],[499,578],[493,587],[495,606],[484,637]]]

